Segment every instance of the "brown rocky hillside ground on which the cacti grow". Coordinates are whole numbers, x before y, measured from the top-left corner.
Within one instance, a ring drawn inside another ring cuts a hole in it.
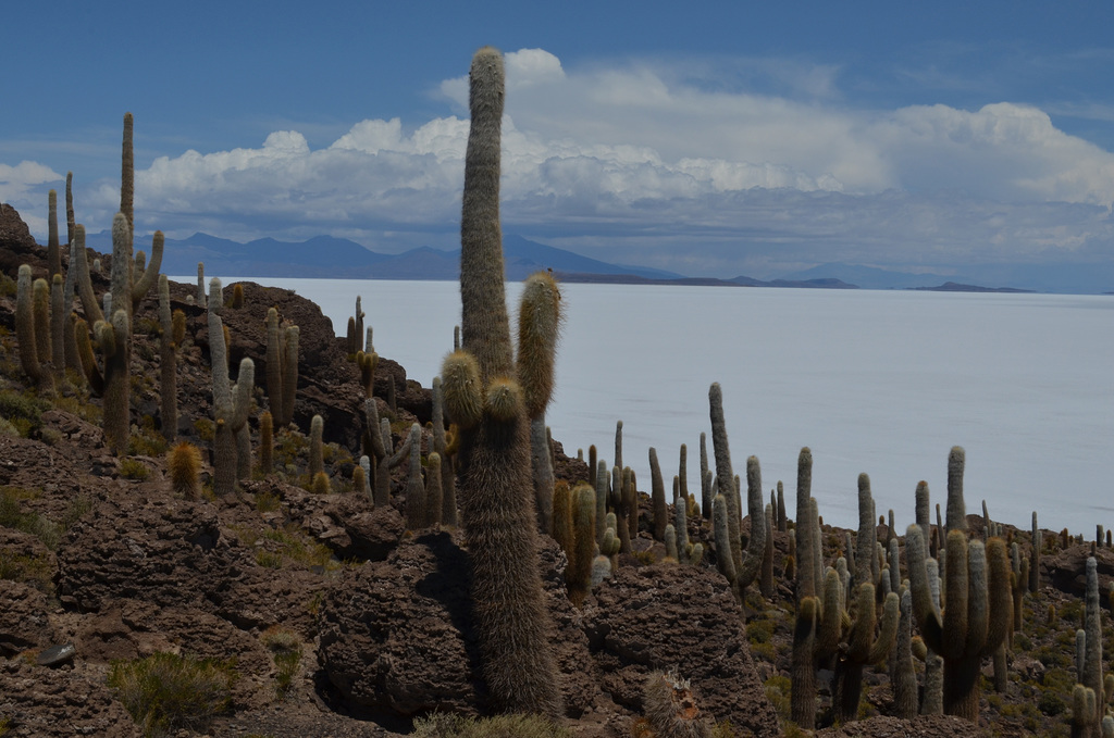
[[[90,263],[101,259],[107,274],[109,257],[88,256]],[[21,368],[13,282],[21,264],[30,265],[35,277],[46,275],[45,249],[4,207],[0,735],[387,736],[409,734],[416,719],[437,712],[490,714],[471,612],[469,552],[451,525],[408,529],[408,489],[409,494],[420,489],[408,488],[408,464],[394,468],[388,504],[374,505],[354,488],[364,390],[344,340],[334,336],[315,305],[244,283],[243,306],[223,311],[229,364],[252,358],[258,385],[267,370],[268,308],[300,326],[301,344],[293,423],[274,440],[276,471],[256,470],[235,493],[218,496],[212,493],[206,315],[195,304],[195,286],[170,285],[172,307],[186,318],[177,360],[177,439],[195,444],[203,457],[205,489],[194,496],[175,491],[170,446],[160,432],[154,293],[135,313],[130,442],[126,455],[114,455],[101,426],[104,400],[80,376],[57,376],[51,388],[36,386]],[[94,285],[104,292],[107,277],[95,274]],[[80,314],[80,302],[75,306]],[[392,451],[418,423],[427,462],[433,443],[430,391],[408,381],[388,357],[378,364],[373,390],[380,417],[390,422]],[[253,397],[248,426],[257,457],[267,400],[260,388]],[[310,491],[307,434],[315,415],[324,421],[328,485]],[[554,445],[558,484],[587,480],[587,464]],[[675,520],[673,505],[670,510]],[[688,680],[683,714],[705,720],[712,735],[800,735],[789,722],[792,523],[773,531],[768,594],[754,584],[740,597],[716,568],[711,522],[695,506],[690,512],[688,539],[706,552],[695,565],[666,555],[654,537],[651,495],[638,492],[629,552],[616,554],[615,572],[579,607],[566,586],[566,552],[543,537],[540,571],[563,727],[571,735],[665,736],[647,722],[647,678],[658,670]],[[981,518],[970,522],[973,535],[980,534]],[[743,540],[749,525],[744,520]],[[847,553],[846,533],[822,528],[824,562],[834,564]],[[1004,534],[1027,555],[1027,532]],[[886,527],[876,535],[885,542]],[[866,669],[858,710],[863,719],[822,735],[1068,735],[1075,631],[1082,627],[1084,561],[1091,551],[1052,532],[1044,535],[1044,549],[1038,591],[1024,596],[1022,628],[1013,634],[1009,676],[1000,690],[993,688],[986,661],[977,724],[885,717],[895,706],[883,660]],[[1114,552],[1098,548],[1096,555],[1105,592]],[[1107,626],[1107,652],[1111,634]],[[162,655],[192,665],[207,681],[204,689],[190,687],[201,693],[195,705],[180,708],[186,717],[178,722],[140,725],[141,696],[152,679],[137,683],[127,677],[138,665],[170,658]],[[824,725],[832,671],[818,666],[817,714]],[[916,669],[922,683],[924,665],[917,661]]]

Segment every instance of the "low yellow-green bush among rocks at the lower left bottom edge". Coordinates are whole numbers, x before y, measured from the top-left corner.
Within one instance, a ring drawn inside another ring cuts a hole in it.
[[[232,705],[236,671],[231,661],[153,653],[114,661],[108,686],[148,738],[182,728],[204,731]]]

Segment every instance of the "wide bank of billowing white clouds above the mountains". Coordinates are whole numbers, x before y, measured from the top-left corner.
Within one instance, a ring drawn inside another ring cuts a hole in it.
[[[508,232],[691,274],[1039,259],[1112,236],[1114,155],[1037,108],[849,109],[834,68],[790,66],[790,97],[710,83],[706,61],[566,69],[524,49],[506,66]],[[466,110],[466,78],[439,89]],[[223,224],[222,235],[326,232],[389,249],[377,239],[401,230],[448,246],[467,136],[466,116],[393,118],[356,122],[321,149],[290,130],[255,148],[160,157],[137,173],[137,217],[178,235]],[[107,220],[115,187],[95,199]]]

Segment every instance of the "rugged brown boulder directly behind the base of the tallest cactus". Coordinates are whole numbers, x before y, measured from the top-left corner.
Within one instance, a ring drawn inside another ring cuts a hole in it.
[[[565,593],[564,557],[549,539],[541,559],[566,712],[579,717],[603,696]],[[404,541],[387,561],[342,578],[321,606],[319,656],[330,681],[365,709],[486,712],[470,579],[467,553],[443,532]]]

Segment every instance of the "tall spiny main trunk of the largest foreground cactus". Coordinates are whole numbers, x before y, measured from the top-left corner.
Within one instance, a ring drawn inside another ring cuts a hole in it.
[[[476,53],[470,87],[460,294],[462,351],[475,357],[476,371],[442,372],[442,380],[447,400],[453,394],[448,386],[453,377],[472,384],[466,394],[482,396],[478,413],[461,417],[450,410],[460,425],[461,519],[472,557],[473,611],[483,675],[495,701],[511,711],[557,716],[561,698],[537,568],[537,515],[530,504],[528,395],[524,398],[522,385],[515,378],[504,293],[499,225],[504,66],[496,49]],[[530,383],[526,376],[519,378]],[[548,396],[541,404],[547,403]]]

